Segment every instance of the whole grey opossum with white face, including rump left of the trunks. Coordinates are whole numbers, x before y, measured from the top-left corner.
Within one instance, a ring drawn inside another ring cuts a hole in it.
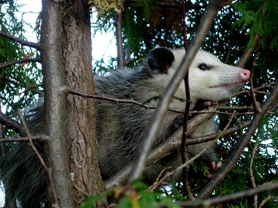
[[[150,51],[147,61],[136,71],[117,71],[95,78],[95,92],[111,98],[133,99],[147,105],[157,105],[158,97],[169,83],[174,71],[185,54],[184,49],[158,47]],[[189,69],[190,109],[197,108],[199,101],[222,101],[230,98],[243,87],[250,71],[220,62],[215,55],[198,51]],[[183,83],[177,90],[170,107],[183,111],[186,105]],[[138,155],[138,147],[149,128],[154,110],[131,103],[115,104],[97,100],[97,141],[99,167],[103,180],[108,179]],[[32,110],[31,110],[32,111]],[[35,123],[34,123],[35,121]],[[43,125],[43,103],[33,110],[27,119],[33,134]],[[168,111],[156,137],[156,147],[170,137],[183,124],[183,115]],[[200,137],[215,132],[213,119],[199,126],[190,137]],[[188,155],[196,155],[211,142],[188,146]],[[213,161],[213,148],[203,159]],[[179,150],[163,157],[144,172],[145,181],[154,182],[167,167],[181,165]],[[47,180],[43,168],[33,150],[27,144],[15,146],[0,159],[0,177],[5,187],[21,203],[22,207],[40,207],[46,200]],[[178,180],[180,173],[175,175]]]

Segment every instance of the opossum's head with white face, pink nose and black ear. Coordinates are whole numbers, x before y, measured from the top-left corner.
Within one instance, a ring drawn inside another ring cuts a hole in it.
[[[170,80],[185,53],[184,49],[153,49],[149,53],[149,67],[153,71],[167,74]],[[224,64],[206,51],[198,51],[189,68],[190,98],[195,101],[222,101],[233,96],[249,77],[250,71]],[[178,91],[183,86],[181,84]]]

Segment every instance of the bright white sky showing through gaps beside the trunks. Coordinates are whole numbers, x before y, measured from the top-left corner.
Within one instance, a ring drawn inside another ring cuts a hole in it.
[[[41,0],[17,0],[18,3],[22,4],[22,8],[19,8],[19,12],[17,12],[17,17],[20,19],[21,17],[28,24],[35,26],[35,21],[38,17],[38,13],[42,10],[42,1]],[[96,13],[92,14],[94,21],[97,17]],[[36,38],[36,34],[33,30],[25,26],[26,30],[26,39],[29,42],[38,42]],[[100,33],[97,32],[94,37],[92,37],[92,60],[101,60],[104,58],[104,63],[107,63],[110,60],[110,57],[117,56],[117,48],[116,48],[116,40],[113,35],[113,31],[111,33]],[[92,61],[94,62],[94,61]],[[3,207],[4,203],[4,195],[3,191],[0,189],[0,207]]]

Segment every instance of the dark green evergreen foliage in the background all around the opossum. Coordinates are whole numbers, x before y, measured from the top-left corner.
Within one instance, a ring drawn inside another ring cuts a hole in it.
[[[92,1],[92,5],[98,1]],[[114,31],[115,10],[121,9],[119,1],[113,1],[109,7],[104,3],[98,4],[99,15],[97,22],[92,25],[93,31]],[[122,38],[126,60],[129,61],[126,67],[134,68],[142,63],[148,51],[155,46],[167,46],[181,48],[183,39],[181,35],[181,6],[180,1],[164,0],[138,0],[123,1],[122,12]],[[204,15],[207,1],[186,1],[186,24],[188,42],[196,35],[195,31]],[[15,35],[25,40],[23,35],[22,19],[17,19],[14,12],[19,8],[17,1],[1,1],[0,27],[1,31]],[[109,9],[109,12],[103,10]],[[228,64],[236,64],[247,46],[256,49],[245,68],[254,71],[254,87],[265,85],[256,92],[256,100],[259,103],[265,101],[266,95],[271,91],[272,85],[278,79],[278,23],[275,19],[278,16],[278,1],[276,0],[250,0],[234,1],[231,6],[226,6],[213,21],[208,31],[203,49],[211,51]],[[37,28],[38,29],[38,28]],[[254,46],[254,36],[260,37],[259,45]],[[15,42],[0,37],[0,62],[10,62],[22,58],[39,57],[37,51],[24,47]],[[96,62],[95,73],[102,73],[115,70],[115,58],[111,58],[111,64],[104,67],[103,60]],[[13,114],[16,108],[22,108],[33,102],[35,94],[42,88],[42,74],[38,65],[16,64],[6,69],[0,69],[0,96],[1,106],[5,106],[8,115]],[[240,94],[227,105],[252,106],[252,96],[248,93]],[[227,110],[224,110],[227,112]],[[238,111],[243,112],[243,111]],[[246,111],[244,111],[246,112]],[[250,112],[252,112],[250,110]],[[237,168],[226,177],[215,189],[213,196],[223,196],[236,191],[243,191],[252,188],[249,169],[252,161],[252,151],[256,148],[252,170],[257,185],[277,180],[277,144],[278,144],[278,112],[265,116],[260,127],[254,132],[252,141],[245,149],[238,161]],[[220,128],[224,128],[230,119],[230,115],[220,114]],[[233,125],[238,122],[252,119],[252,114],[237,115],[233,119]],[[8,130],[6,130],[8,132]],[[234,150],[235,145],[243,132],[236,132],[219,139],[216,148],[218,157],[225,162],[228,155]],[[196,164],[198,165],[198,164]],[[202,164],[199,168],[202,169]],[[201,171],[202,172],[202,171]],[[193,174],[194,173],[193,171]],[[191,182],[193,193],[198,193],[206,182],[204,174],[200,173],[198,180]],[[161,188],[163,196],[181,199],[181,183],[172,184],[171,189]],[[171,186],[168,186],[171,187]],[[140,191],[139,191],[140,192]],[[277,191],[259,195],[259,202],[268,196],[275,196],[276,200],[270,200],[267,207],[277,207]],[[142,195],[144,196],[144,195]],[[145,196],[148,197],[148,196]],[[142,197],[142,204],[145,205],[146,198]],[[150,199],[148,199],[150,200]],[[160,201],[158,196],[152,196],[152,200]],[[120,205],[131,205],[130,201],[122,201]],[[223,207],[252,207],[253,199],[248,198],[233,202],[227,202]]]

